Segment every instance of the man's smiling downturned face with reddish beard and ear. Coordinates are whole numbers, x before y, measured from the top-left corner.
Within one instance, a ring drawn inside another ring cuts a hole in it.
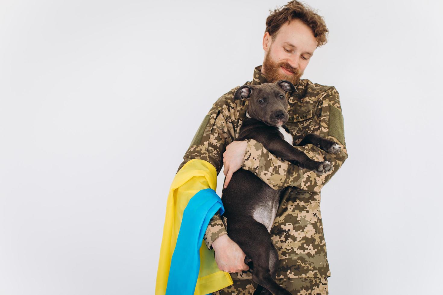
[[[261,72],[269,83],[289,80],[296,85],[317,48],[317,40],[311,28],[299,19],[285,23],[276,34],[274,41],[268,32],[264,34],[266,54]]]

